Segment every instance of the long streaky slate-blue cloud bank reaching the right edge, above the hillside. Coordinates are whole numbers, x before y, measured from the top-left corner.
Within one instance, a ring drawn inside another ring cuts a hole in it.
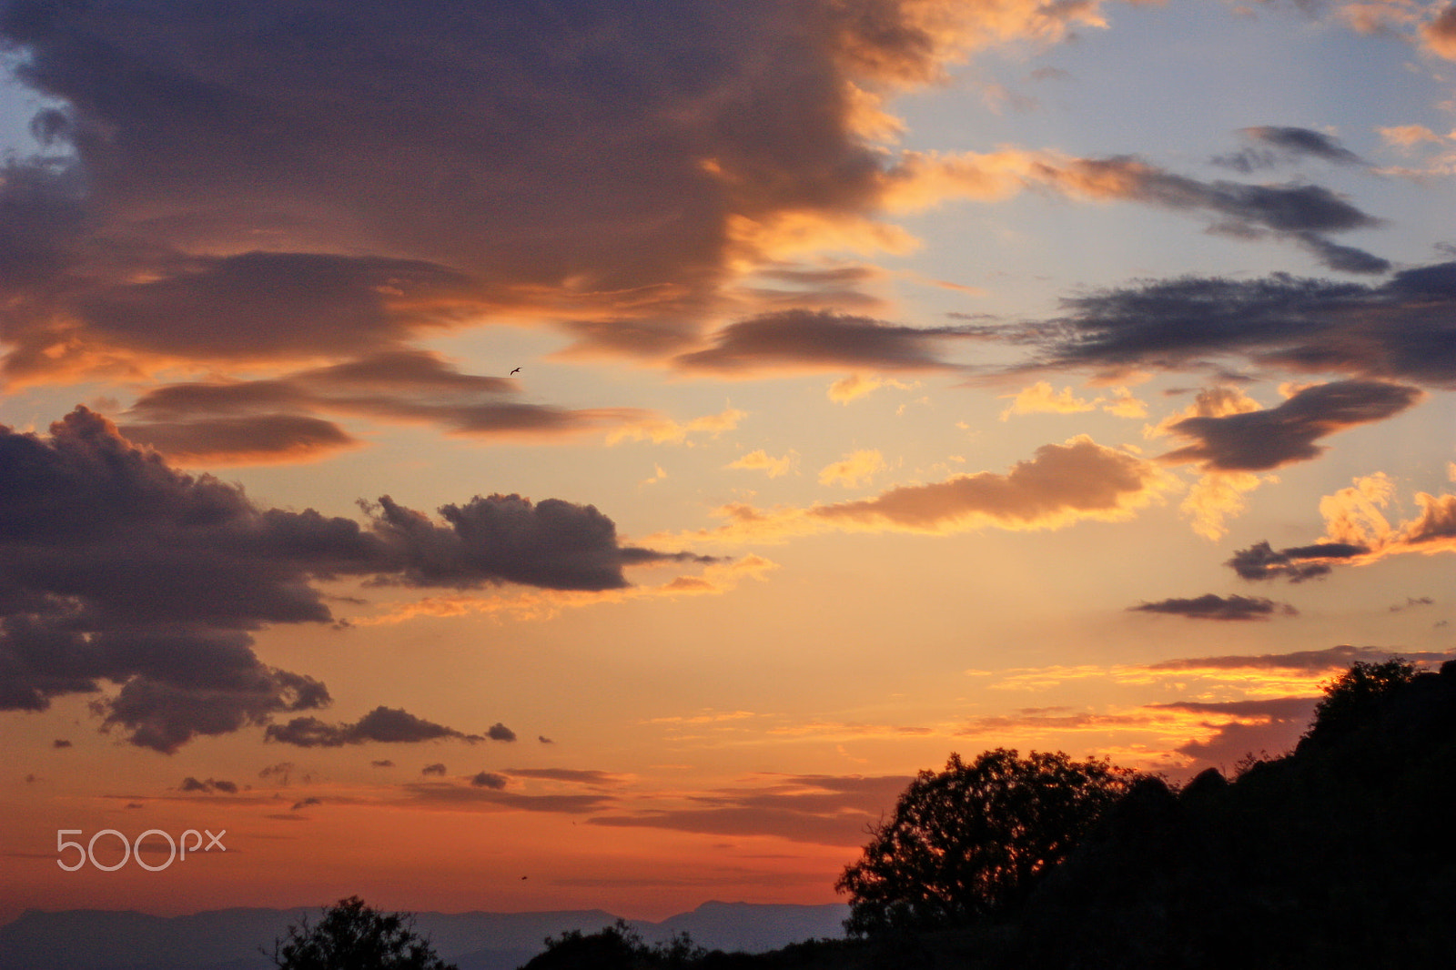
[[[1034,367],[1217,370],[1229,358],[1306,374],[1456,387],[1456,262],[1374,285],[1274,274],[1184,277],[1063,300],[1067,313],[1003,332]]]

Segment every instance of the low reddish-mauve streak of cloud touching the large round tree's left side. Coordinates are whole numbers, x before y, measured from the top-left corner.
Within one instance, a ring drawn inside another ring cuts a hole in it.
[[[772,835],[815,845],[859,846],[866,826],[891,810],[910,784],[900,776],[785,776],[761,788],[695,797],[692,807],[598,816],[594,826],[673,829],[705,835]]]

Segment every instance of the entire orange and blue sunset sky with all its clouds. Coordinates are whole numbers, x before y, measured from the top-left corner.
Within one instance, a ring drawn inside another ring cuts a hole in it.
[[[1452,650],[1446,0],[0,38],[0,920],[834,902],[951,752]]]

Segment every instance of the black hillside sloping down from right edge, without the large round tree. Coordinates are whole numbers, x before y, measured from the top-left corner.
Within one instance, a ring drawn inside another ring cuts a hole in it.
[[[1356,664],[1299,746],[1140,776],[1015,906],[763,954],[549,941],[526,970],[1241,970],[1452,966],[1456,660]]]

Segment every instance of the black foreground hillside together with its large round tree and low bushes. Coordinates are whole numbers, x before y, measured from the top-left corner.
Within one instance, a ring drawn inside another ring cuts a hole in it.
[[[1453,966],[1456,661],[1356,664],[1293,753],[1233,778],[952,756],[872,836],[839,881],[850,939],[725,954],[619,923],[523,970]]]

